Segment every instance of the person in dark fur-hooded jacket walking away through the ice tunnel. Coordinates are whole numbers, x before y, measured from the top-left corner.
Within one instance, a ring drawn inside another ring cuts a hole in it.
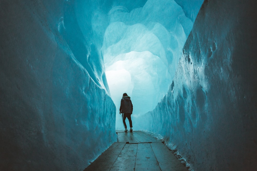
[[[131,114],[133,112],[133,105],[130,100],[130,96],[127,95],[127,93],[123,93],[122,99],[121,99],[121,107],[120,107],[120,114],[122,113],[122,121],[125,128],[125,132],[127,132],[127,125],[125,122],[125,119],[128,118],[129,125],[130,125],[130,132],[132,132],[132,120],[131,120]]]

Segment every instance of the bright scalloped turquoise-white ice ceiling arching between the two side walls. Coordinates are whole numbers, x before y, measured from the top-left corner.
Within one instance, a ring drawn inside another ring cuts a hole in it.
[[[84,35],[92,34],[91,39],[100,40],[96,43],[96,53],[104,59],[105,75],[116,108],[126,92],[136,104],[133,116],[154,109],[168,91],[203,0],[90,4],[97,6],[92,7],[91,21],[87,21],[91,22],[93,33],[87,32],[83,24],[86,15],[81,14],[88,4],[80,2],[76,10],[78,24],[84,27]]]

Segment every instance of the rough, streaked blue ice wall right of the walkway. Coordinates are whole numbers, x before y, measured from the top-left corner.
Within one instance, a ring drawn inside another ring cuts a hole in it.
[[[167,95],[138,119],[193,170],[256,170],[256,6],[205,1]]]

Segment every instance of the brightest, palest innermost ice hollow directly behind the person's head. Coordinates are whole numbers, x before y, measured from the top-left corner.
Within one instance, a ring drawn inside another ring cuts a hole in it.
[[[156,106],[158,99],[162,98],[160,92],[166,93],[166,85],[171,80],[167,66],[158,56],[149,51],[130,52],[118,56],[117,58],[121,60],[117,59],[117,62],[106,68],[107,79],[112,74],[110,79],[113,79],[114,84],[109,85],[112,99],[118,99],[114,103],[119,107],[122,92],[125,91],[130,95],[133,90],[132,102],[136,103],[133,107],[133,115],[138,116],[139,112],[144,114]],[[120,121],[121,117],[116,117],[116,125],[121,125]]]

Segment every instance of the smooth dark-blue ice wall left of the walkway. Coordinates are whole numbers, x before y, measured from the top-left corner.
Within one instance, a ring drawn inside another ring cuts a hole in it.
[[[83,170],[117,140],[98,39],[75,8],[0,1],[0,170]]]

